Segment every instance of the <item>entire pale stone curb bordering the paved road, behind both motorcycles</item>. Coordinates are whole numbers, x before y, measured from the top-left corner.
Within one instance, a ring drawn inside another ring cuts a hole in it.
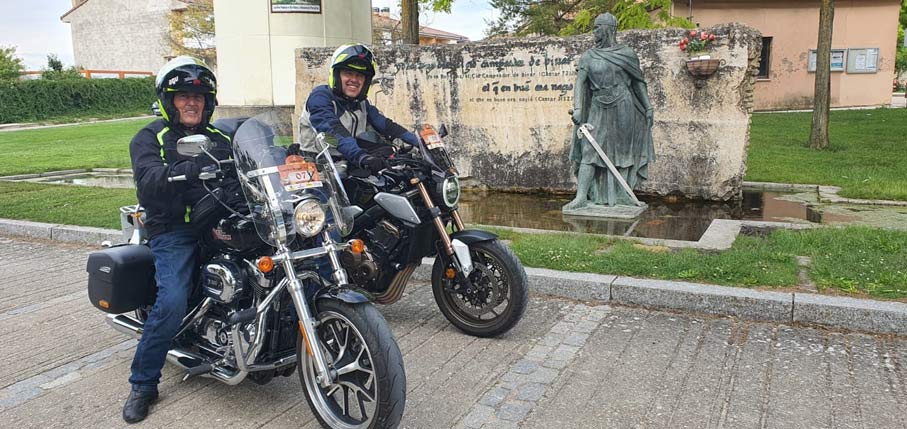
[[[122,242],[120,231],[0,219],[0,234],[99,245]],[[426,258],[413,280],[430,281]],[[805,323],[854,331],[907,335],[907,304],[806,293],[526,268],[531,292],[580,301]]]

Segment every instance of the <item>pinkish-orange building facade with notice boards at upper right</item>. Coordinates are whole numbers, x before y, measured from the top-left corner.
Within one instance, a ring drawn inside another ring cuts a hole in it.
[[[837,0],[832,107],[887,106],[894,79],[899,0]],[[703,28],[740,22],[762,32],[756,110],[811,108],[818,0],[677,0],[674,15]]]

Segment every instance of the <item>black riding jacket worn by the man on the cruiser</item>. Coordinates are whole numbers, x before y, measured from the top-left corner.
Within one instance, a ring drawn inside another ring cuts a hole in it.
[[[217,159],[228,159],[233,154],[230,138],[220,130],[208,125],[199,134],[215,143],[211,154]],[[171,164],[192,159],[176,151],[176,141],[186,135],[182,129],[172,129],[166,121],[158,119],[142,128],[129,144],[136,196],[145,208],[145,231],[149,238],[185,225],[192,206],[207,194],[200,182],[167,181],[175,175],[170,172]],[[214,164],[204,154],[196,157],[195,162],[199,169]]]

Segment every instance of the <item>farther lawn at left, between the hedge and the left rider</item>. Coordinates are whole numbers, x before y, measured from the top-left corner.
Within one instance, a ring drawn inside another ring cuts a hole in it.
[[[150,119],[0,132],[0,176],[74,168],[128,168],[129,142]]]

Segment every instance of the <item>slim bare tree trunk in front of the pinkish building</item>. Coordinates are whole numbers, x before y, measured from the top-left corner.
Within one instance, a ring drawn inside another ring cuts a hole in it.
[[[819,41],[816,44],[816,91],[813,99],[813,126],[809,147],[828,147],[828,109],[831,106],[831,30],[835,22],[835,0],[821,0]]]

